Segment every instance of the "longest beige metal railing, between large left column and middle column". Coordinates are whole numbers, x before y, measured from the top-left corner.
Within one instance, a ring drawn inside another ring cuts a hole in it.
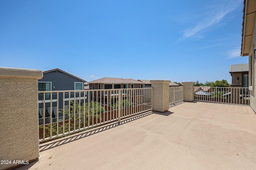
[[[39,94],[42,96],[39,141],[120,122],[122,118],[152,110],[152,88],[41,91]]]

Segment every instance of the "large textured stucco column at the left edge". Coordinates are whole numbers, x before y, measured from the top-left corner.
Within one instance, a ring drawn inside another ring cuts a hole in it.
[[[0,67],[0,169],[39,157],[38,79],[41,70]],[[18,162],[17,162],[18,160]]]

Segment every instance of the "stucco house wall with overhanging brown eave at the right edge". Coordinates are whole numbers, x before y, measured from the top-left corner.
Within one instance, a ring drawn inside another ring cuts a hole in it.
[[[256,112],[256,0],[244,0],[241,56],[249,57],[250,106]]]

